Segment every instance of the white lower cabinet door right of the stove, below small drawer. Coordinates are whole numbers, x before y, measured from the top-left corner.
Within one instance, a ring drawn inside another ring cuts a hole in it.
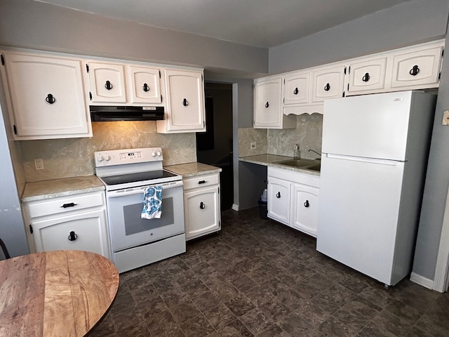
[[[218,186],[185,192],[184,206],[186,239],[220,230]]]

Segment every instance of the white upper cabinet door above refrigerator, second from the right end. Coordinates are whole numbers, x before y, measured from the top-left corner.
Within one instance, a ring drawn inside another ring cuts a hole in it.
[[[348,69],[348,94],[384,91],[387,56],[351,63]]]

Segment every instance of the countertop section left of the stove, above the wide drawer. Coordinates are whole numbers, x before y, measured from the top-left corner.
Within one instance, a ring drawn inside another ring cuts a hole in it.
[[[105,190],[105,185],[97,176],[43,180],[25,185],[25,190],[22,193],[22,202],[101,190]]]

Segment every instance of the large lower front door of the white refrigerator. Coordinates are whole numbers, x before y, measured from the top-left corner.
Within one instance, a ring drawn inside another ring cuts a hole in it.
[[[406,164],[330,155],[322,161],[316,249],[391,285]]]

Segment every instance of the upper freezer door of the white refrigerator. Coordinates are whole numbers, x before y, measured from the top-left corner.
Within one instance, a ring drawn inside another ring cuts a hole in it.
[[[324,102],[322,152],[406,160],[412,91]]]

